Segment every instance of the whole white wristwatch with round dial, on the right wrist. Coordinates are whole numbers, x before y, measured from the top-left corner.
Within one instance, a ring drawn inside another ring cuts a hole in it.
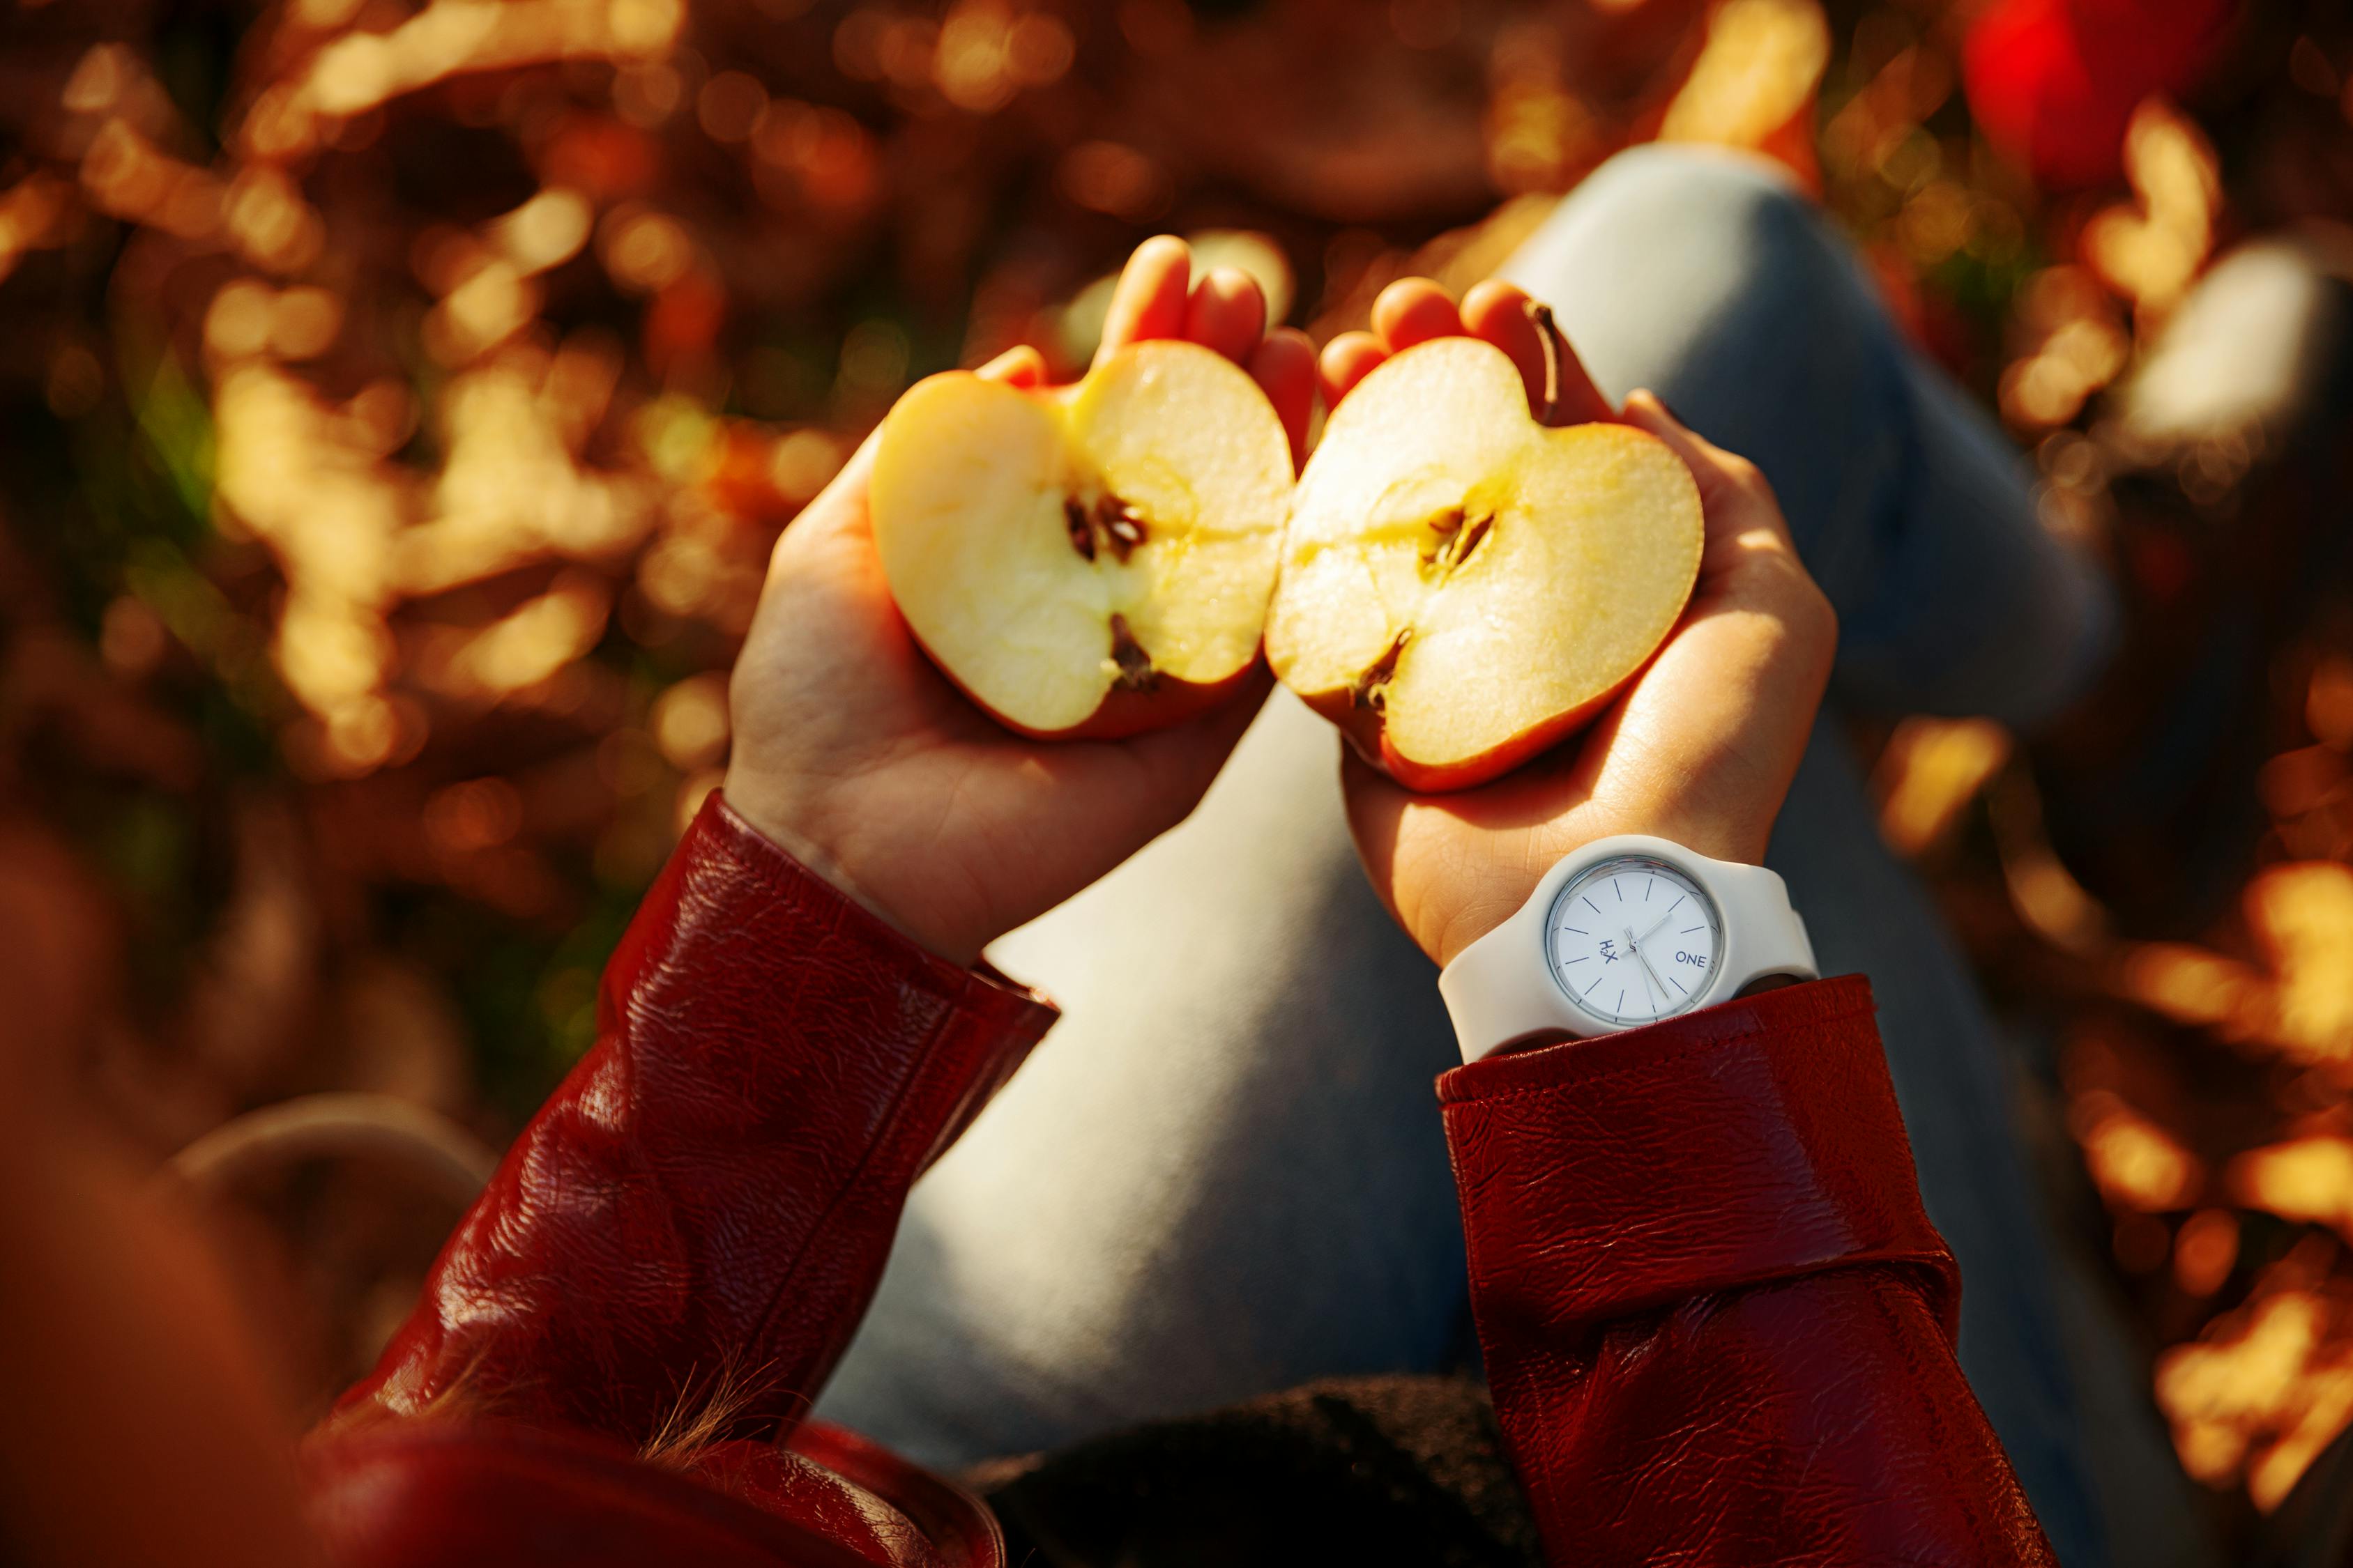
[[[1765,976],[1817,978],[1788,886],[1647,835],[1569,853],[1438,976],[1464,1060],[1544,1030],[1614,1034],[1729,1001]]]

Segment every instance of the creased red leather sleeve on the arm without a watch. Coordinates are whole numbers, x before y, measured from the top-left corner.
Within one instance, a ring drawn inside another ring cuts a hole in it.
[[[915,1175],[1054,1011],[955,969],[713,795],[621,938],[598,1044],[344,1396],[642,1443],[720,1392],[791,1427]]]

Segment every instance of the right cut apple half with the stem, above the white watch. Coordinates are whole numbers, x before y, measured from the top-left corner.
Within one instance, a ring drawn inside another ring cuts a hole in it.
[[[1699,576],[1699,487],[1657,437],[1548,428],[1480,339],[1374,369],[1292,496],[1266,658],[1412,790],[1546,750],[1645,665]]]

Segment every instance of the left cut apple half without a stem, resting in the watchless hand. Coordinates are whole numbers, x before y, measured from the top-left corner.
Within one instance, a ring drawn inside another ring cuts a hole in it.
[[[1066,388],[927,376],[882,421],[875,550],[932,663],[1026,736],[1132,736],[1259,658],[1292,454],[1231,360],[1129,343]]]

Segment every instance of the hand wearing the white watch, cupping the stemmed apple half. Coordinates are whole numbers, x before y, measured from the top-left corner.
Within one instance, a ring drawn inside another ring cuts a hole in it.
[[[1374,301],[1372,327],[1325,348],[1332,404],[1388,355],[1468,331],[1508,353],[1529,407],[1544,407],[1541,334],[1551,329],[1506,282],[1478,284],[1461,308],[1428,280],[1395,282]],[[1346,759],[1348,825],[1365,870],[1440,964],[1593,839],[1649,832],[1718,860],[1760,860],[1831,677],[1838,621],[1755,465],[1685,430],[1649,393],[1614,414],[1562,348],[1555,423],[1588,418],[1649,430],[1692,468],[1708,529],[1699,585],[1657,658],[1593,729],[1515,773],[1461,795],[1414,795]]]

